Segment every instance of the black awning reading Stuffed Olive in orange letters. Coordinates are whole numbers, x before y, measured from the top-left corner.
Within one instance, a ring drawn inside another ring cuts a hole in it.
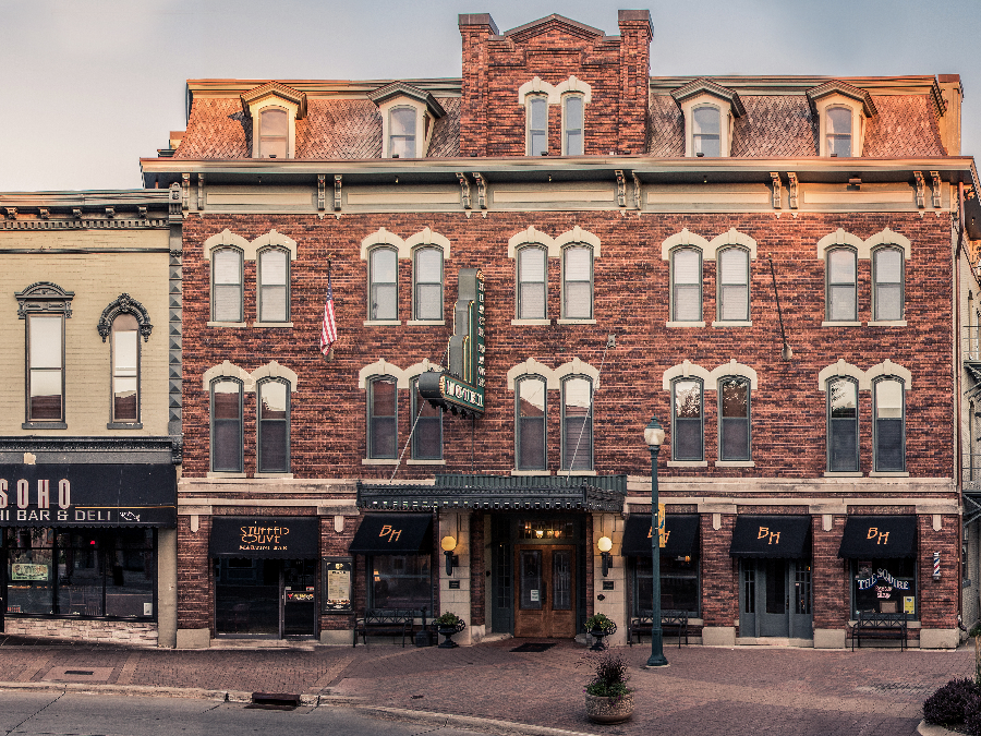
[[[208,555],[311,559],[319,557],[318,542],[315,516],[216,516]]]

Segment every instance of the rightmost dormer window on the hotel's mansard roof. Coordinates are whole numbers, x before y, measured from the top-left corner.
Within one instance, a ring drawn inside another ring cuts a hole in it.
[[[819,121],[818,155],[861,156],[865,123],[877,114],[872,96],[864,89],[833,80],[808,89],[808,100]]]

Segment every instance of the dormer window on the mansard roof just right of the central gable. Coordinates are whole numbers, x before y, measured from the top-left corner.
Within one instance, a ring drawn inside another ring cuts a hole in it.
[[[739,95],[705,79],[671,93],[685,118],[685,155],[730,156],[736,119],[746,114]]]

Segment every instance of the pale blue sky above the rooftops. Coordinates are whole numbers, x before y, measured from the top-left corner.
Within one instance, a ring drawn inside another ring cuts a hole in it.
[[[959,73],[961,153],[981,149],[979,0],[0,0],[0,191],[138,188],[187,79],[452,77],[458,13],[614,35],[645,7],[654,75]]]

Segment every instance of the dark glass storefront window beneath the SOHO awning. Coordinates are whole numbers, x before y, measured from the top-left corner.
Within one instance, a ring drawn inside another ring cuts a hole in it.
[[[11,529],[7,546],[8,614],[156,615],[153,529]]]

